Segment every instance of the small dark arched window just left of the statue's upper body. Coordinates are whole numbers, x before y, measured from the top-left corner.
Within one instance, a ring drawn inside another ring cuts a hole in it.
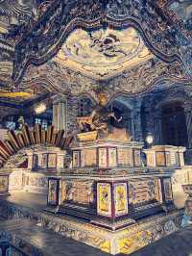
[[[88,97],[81,98],[78,103],[78,116],[90,115],[93,103]]]

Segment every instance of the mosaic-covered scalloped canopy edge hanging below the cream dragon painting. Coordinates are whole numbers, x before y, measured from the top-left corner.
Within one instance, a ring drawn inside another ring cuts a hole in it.
[[[138,95],[152,90],[159,83],[188,85],[190,82],[183,75],[180,64],[165,64],[161,61],[149,60],[144,64],[137,64],[122,74],[108,80],[96,81],[65,68],[56,61],[50,61],[38,67],[29,66],[21,90],[33,87],[46,88],[60,95],[89,94],[97,101],[98,90],[108,91],[108,100],[117,94]]]

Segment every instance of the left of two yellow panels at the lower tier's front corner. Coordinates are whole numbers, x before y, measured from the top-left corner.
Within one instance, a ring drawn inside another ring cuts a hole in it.
[[[111,217],[111,185],[109,183],[97,184],[97,213],[101,216]]]

